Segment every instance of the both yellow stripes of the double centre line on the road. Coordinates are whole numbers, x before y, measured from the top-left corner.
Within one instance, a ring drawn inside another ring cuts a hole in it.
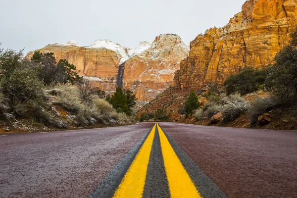
[[[160,137],[171,198],[200,198],[190,176],[157,123],[153,126],[148,138],[137,153],[113,198],[142,198],[156,128]]]

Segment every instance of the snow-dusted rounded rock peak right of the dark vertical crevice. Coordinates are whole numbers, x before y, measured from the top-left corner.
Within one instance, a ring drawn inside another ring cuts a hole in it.
[[[151,46],[120,66],[119,84],[140,100],[149,101],[168,88],[188,47],[175,34],[161,34]]]

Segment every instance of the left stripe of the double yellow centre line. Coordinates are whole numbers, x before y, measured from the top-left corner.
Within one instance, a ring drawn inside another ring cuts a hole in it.
[[[135,159],[125,174],[121,184],[114,194],[114,198],[141,198],[144,192],[148,161],[153,142],[156,124],[148,134],[148,138],[138,151]]]

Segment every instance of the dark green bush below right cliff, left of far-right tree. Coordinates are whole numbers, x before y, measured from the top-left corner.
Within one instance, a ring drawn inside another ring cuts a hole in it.
[[[254,69],[245,67],[240,73],[230,75],[224,82],[227,95],[238,92],[246,95],[257,91],[264,84],[267,76],[267,68]]]

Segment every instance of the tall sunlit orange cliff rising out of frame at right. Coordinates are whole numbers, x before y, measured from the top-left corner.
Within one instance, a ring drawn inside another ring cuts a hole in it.
[[[243,67],[263,67],[290,40],[297,24],[297,0],[247,0],[223,28],[211,28],[191,42],[173,86],[199,89],[222,84]]]

